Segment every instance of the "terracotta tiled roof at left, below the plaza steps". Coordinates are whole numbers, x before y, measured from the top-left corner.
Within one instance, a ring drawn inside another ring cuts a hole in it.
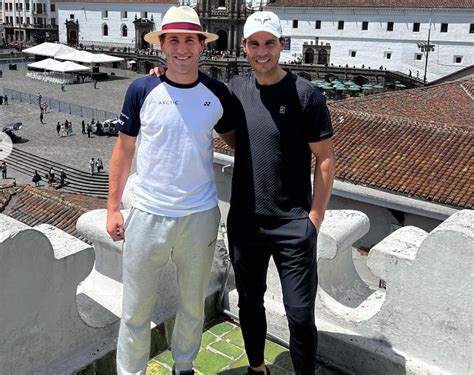
[[[10,202],[8,216],[29,226],[51,224],[83,241],[76,222],[83,213],[106,208],[105,199],[88,195],[44,191],[28,185],[0,190],[0,211]]]

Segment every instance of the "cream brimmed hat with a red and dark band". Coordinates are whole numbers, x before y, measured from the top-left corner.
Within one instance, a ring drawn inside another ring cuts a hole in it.
[[[153,31],[145,35],[148,43],[159,44],[160,35],[166,33],[191,33],[201,34],[206,37],[206,43],[217,40],[217,34],[203,31],[199,16],[196,11],[188,6],[175,7],[172,6],[163,16],[161,31]]]

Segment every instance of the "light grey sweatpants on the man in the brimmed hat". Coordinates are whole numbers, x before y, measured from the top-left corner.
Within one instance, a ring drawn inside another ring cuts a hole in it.
[[[185,217],[157,216],[132,209],[123,245],[119,375],[145,374],[158,278],[170,256],[177,268],[179,293],[171,350],[176,370],[192,368],[201,345],[204,300],[219,221],[218,207]]]

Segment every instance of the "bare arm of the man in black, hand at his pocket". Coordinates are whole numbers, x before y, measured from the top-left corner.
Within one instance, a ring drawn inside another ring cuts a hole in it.
[[[324,220],[324,212],[331,196],[334,181],[335,157],[332,139],[309,143],[311,152],[316,157],[314,168],[313,201],[309,218],[319,232]]]

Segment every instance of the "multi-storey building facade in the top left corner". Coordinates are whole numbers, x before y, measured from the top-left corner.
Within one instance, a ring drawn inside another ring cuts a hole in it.
[[[3,43],[39,43],[58,39],[56,1],[2,0]]]

